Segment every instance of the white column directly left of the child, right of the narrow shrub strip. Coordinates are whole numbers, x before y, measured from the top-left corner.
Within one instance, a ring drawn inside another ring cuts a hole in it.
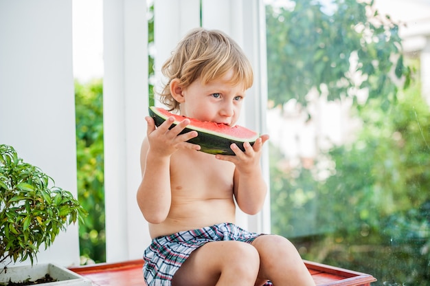
[[[106,261],[142,258],[150,242],[137,207],[148,110],[146,1],[104,0]]]

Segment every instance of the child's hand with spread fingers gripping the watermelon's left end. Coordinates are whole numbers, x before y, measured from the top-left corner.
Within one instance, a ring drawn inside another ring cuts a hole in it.
[[[186,142],[191,138],[197,137],[197,131],[179,134],[190,124],[189,119],[182,120],[172,129],[169,129],[169,127],[174,122],[173,117],[168,118],[158,128],[155,126],[153,118],[147,116],[145,120],[148,123],[146,136],[148,137],[151,152],[155,152],[159,156],[170,156],[181,148],[200,150],[199,145]]]

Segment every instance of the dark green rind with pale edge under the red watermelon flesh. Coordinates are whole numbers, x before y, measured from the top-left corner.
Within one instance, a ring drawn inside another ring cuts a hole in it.
[[[156,107],[149,107],[149,115],[154,119],[156,126],[160,126],[167,119],[166,117],[163,117],[163,115],[157,113]],[[175,120],[172,123],[172,126],[170,126],[170,129],[172,129],[177,124],[179,124],[179,121]],[[249,142],[249,144],[251,144],[252,146],[259,137],[259,135],[256,134],[255,137],[248,138],[249,140],[237,140],[232,139],[229,135],[225,135],[222,133],[214,133],[214,131],[204,130],[192,125],[188,125],[187,127],[185,127],[185,129],[183,129],[180,134],[188,133],[190,131],[197,131],[199,135],[188,140],[188,142],[192,144],[198,144],[201,147],[201,152],[213,155],[236,155],[230,148],[231,144],[235,143],[240,148],[240,150],[245,151],[243,143]]]

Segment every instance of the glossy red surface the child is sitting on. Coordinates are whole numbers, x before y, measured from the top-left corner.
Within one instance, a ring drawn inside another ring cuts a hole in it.
[[[369,274],[354,272],[339,267],[305,261],[317,286],[370,286],[376,279]],[[143,261],[124,263],[100,263],[82,267],[72,267],[76,272],[93,281],[94,286],[144,286]]]

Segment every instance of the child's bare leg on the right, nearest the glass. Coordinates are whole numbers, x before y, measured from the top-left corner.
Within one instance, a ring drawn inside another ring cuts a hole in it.
[[[288,239],[278,235],[262,235],[252,245],[260,254],[258,278],[269,279],[277,286],[315,286],[299,252]]]

